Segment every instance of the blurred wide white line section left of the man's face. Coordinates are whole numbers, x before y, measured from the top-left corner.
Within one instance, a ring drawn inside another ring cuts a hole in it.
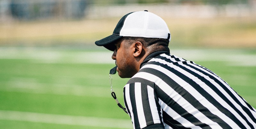
[[[111,58],[112,52],[91,52],[91,51],[61,51],[53,49],[38,48],[15,48],[0,47],[0,59],[30,59],[35,63],[68,63],[86,64],[101,63],[114,64]]]

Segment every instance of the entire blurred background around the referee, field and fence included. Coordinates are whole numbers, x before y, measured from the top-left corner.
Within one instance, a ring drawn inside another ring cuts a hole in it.
[[[256,0],[0,0],[0,128],[132,128],[110,95],[112,53],[94,42],[143,10],[166,21],[172,54],[256,108]],[[128,79],[112,78],[123,104]]]

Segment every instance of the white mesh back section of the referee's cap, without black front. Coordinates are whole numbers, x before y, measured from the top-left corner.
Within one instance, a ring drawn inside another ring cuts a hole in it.
[[[148,11],[136,11],[128,15],[120,30],[120,36],[163,38],[171,41],[170,31],[165,21]]]

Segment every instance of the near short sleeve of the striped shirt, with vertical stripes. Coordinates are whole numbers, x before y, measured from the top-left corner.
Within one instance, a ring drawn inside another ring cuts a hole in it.
[[[161,108],[152,86],[135,82],[124,87],[125,107],[132,119],[133,128],[140,129],[150,125],[164,128]]]

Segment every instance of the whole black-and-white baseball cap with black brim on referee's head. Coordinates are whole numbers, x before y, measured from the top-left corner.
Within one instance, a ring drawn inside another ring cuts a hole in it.
[[[95,44],[114,51],[114,42],[124,36],[162,38],[171,41],[170,31],[162,18],[148,11],[136,11],[124,15],[116,25],[112,35]]]

